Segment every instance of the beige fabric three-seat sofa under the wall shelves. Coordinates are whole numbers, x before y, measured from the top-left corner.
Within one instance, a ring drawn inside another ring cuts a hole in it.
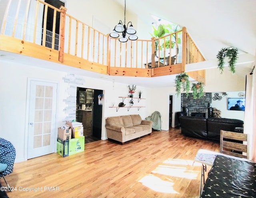
[[[108,139],[124,142],[152,132],[152,121],[142,120],[140,115],[122,115],[106,118]]]

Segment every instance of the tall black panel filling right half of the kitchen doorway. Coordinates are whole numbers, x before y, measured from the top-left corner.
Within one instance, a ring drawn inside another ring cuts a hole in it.
[[[92,135],[98,139],[101,139],[102,131],[102,103],[103,91],[94,89],[93,92],[93,103],[92,103]],[[100,97],[98,97],[100,96]]]

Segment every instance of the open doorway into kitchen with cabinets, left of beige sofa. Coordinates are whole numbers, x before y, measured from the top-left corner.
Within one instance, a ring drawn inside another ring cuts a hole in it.
[[[103,90],[77,87],[76,121],[83,124],[85,143],[98,141],[102,132],[102,104],[98,95]]]

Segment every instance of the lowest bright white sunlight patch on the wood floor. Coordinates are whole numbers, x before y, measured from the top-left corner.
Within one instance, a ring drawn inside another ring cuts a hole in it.
[[[152,174],[144,176],[139,182],[156,192],[179,194],[173,189],[173,182],[161,180]]]

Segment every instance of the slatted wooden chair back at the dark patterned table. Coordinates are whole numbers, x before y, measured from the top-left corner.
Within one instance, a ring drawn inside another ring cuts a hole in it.
[[[220,130],[220,152],[248,159],[249,135]]]

